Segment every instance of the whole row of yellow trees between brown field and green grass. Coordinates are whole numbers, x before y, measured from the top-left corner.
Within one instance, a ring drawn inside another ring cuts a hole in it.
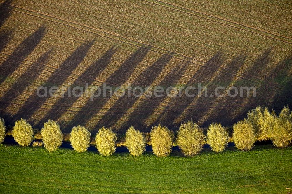
[[[15,122],[12,135],[21,146],[28,146],[33,139],[32,126],[24,119]],[[0,119],[0,141],[4,140],[4,120]],[[62,131],[60,126],[52,120],[44,123],[41,129],[44,147],[55,151],[62,145]],[[174,133],[165,126],[154,126],[150,132],[151,145],[155,155],[168,156],[173,146]],[[87,151],[90,146],[90,132],[83,126],[74,127],[70,133],[70,142],[74,150]],[[277,115],[267,108],[257,107],[247,114],[247,118],[233,125],[232,139],[237,149],[247,151],[255,144],[256,140],[272,140],[277,147],[286,147],[292,141],[292,113],[284,107]],[[213,151],[222,152],[230,140],[226,128],[220,123],[211,124],[206,136],[197,123],[188,121],[180,125],[177,131],[175,144],[180,147],[185,156],[194,156],[207,142]],[[100,128],[95,136],[96,148],[100,154],[110,156],[116,151],[117,134],[109,128]],[[143,154],[146,150],[144,135],[131,126],[126,131],[126,146],[133,156]]]

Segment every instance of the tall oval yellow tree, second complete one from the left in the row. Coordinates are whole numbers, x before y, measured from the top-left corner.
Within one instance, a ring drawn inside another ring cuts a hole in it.
[[[49,152],[57,150],[62,145],[62,131],[55,121],[49,120],[44,123],[44,127],[41,129],[41,136],[44,147]]]

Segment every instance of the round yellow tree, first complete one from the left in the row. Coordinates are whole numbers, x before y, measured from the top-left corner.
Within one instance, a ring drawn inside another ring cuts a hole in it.
[[[21,118],[15,122],[12,130],[12,136],[19,145],[30,145],[33,135],[34,132],[32,130],[32,126],[25,119]]]

